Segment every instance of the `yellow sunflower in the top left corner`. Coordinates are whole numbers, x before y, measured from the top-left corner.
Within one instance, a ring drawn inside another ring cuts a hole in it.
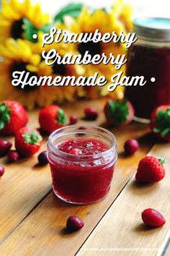
[[[36,29],[48,25],[50,16],[42,14],[40,4],[32,5],[30,0],[2,0],[0,11],[0,43],[6,38],[25,38],[24,18]]]

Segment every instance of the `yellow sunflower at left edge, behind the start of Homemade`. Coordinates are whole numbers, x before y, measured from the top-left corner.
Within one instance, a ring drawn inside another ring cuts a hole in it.
[[[0,46],[0,56],[3,57],[0,65],[0,101],[16,100],[32,110],[37,106],[47,106],[55,101],[55,87],[39,86],[31,87],[12,85],[12,73],[14,71],[30,72],[31,76],[50,75],[52,70],[40,62],[40,55],[33,54],[26,40],[9,38],[4,46]]]

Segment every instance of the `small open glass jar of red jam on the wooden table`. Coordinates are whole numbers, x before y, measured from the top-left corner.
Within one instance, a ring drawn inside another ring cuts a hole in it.
[[[48,161],[55,195],[73,204],[97,202],[106,197],[112,182],[115,136],[100,127],[57,129],[48,140]]]

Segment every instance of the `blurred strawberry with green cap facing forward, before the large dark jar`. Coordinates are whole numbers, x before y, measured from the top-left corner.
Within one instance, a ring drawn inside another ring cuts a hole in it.
[[[134,108],[130,101],[109,100],[104,106],[104,114],[109,125],[129,124],[133,120]]]

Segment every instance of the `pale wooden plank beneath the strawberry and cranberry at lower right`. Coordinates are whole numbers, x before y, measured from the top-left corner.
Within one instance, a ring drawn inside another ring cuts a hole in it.
[[[170,144],[153,147],[150,155],[166,158],[164,180],[158,184],[138,186],[133,176],[77,255],[161,255],[170,236],[169,152]],[[147,228],[140,217],[146,208],[159,210],[166,218],[166,225],[157,229]],[[114,248],[120,251],[114,252]],[[122,248],[124,250],[121,251]]]

